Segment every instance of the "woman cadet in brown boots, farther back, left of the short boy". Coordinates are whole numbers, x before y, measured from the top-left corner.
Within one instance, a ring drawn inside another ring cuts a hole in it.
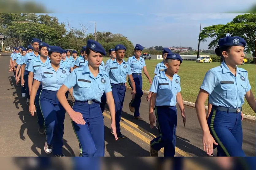
[[[140,57],[141,52],[143,50],[143,46],[136,44],[134,48],[134,56],[128,58],[127,63],[130,65],[132,69],[132,77],[135,81],[136,86],[136,95],[134,99],[129,103],[130,111],[134,113],[134,118],[138,120],[142,120],[139,116],[139,106],[141,102],[141,97],[143,96],[142,92],[142,76],[141,71],[143,70],[144,74],[147,76],[148,81],[152,84],[151,78],[147,72],[147,67],[144,58]],[[130,80],[128,79],[128,83],[130,87],[132,87]]]

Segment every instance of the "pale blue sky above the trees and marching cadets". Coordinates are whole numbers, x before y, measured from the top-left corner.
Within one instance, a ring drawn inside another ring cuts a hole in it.
[[[29,0],[19,0],[29,1]],[[126,36],[133,45],[187,46],[197,49],[200,24],[202,29],[227,24],[236,11],[246,11],[254,0],[33,0],[56,16],[59,22],[69,20],[71,27],[80,23],[90,27],[87,33],[110,31]],[[193,2],[193,3],[192,3]],[[244,13],[244,12],[241,12]],[[68,28],[67,28],[68,30]],[[208,49],[207,42],[201,49]]]

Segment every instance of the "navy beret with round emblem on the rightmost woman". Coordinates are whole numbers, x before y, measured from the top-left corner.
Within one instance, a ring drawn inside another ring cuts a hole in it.
[[[246,42],[243,38],[238,36],[227,36],[225,38],[220,38],[218,42],[219,47],[227,47],[227,46],[246,46]]]

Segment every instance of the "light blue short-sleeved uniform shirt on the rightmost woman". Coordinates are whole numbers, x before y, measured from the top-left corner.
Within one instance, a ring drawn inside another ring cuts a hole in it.
[[[236,76],[223,61],[220,66],[207,71],[200,89],[207,91],[209,103],[215,106],[239,108],[244,103],[245,93],[250,91],[248,73],[236,66]]]

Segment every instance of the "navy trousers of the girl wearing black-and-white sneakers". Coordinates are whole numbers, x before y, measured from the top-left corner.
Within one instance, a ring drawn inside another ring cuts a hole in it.
[[[59,103],[56,96],[57,92],[42,89],[39,103],[44,116],[46,141],[49,145],[52,145],[53,154],[62,154],[66,110]]]

